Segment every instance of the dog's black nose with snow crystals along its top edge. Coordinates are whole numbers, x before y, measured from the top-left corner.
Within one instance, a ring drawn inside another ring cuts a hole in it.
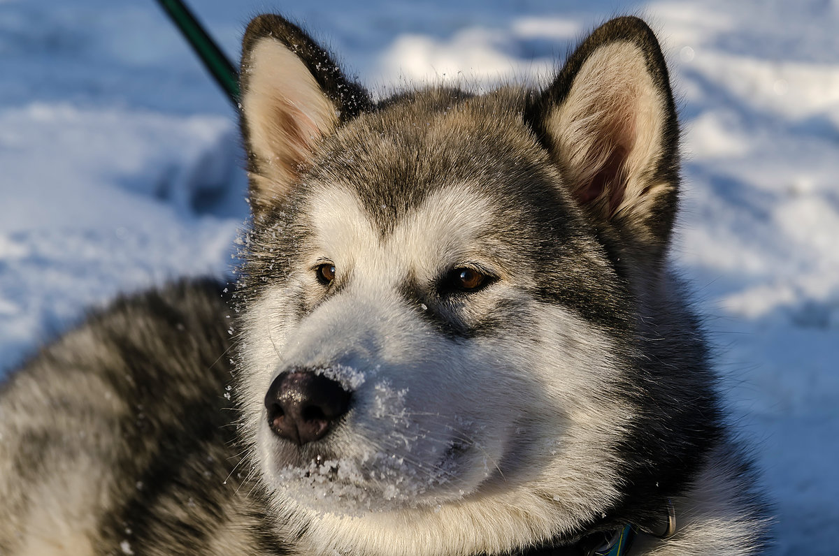
[[[302,446],[326,436],[350,406],[350,392],[322,374],[284,372],[265,394],[268,426],[274,434]]]

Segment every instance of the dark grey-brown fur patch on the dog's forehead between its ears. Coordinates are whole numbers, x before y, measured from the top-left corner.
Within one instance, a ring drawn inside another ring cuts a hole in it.
[[[307,178],[354,190],[383,235],[443,187],[469,184],[517,205],[550,164],[524,125],[524,96],[430,89],[388,99],[330,138]]]

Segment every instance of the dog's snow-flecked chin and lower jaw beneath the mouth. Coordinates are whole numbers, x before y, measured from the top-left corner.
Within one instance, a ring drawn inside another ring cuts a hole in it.
[[[263,465],[276,496],[313,512],[347,516],[437,508],[472,495],[497,473],[486,455],[456,441],[427,462],[415,455],[341,455],[285,444]]]

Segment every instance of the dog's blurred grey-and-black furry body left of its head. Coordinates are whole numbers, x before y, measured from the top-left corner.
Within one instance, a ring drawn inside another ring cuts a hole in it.
[[[0,553],[274,553],[237,466],[226,295],[123,295],[8,377]]]

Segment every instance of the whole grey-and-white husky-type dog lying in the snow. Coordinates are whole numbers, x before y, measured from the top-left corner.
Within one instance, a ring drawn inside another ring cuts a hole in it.
[[[8,379],[0,553],[764,551],[668,270],[679,129],[645,23],[543,91],[377,103],[263,15],[241,75],[238,314],[211,283],[122,299]]]

